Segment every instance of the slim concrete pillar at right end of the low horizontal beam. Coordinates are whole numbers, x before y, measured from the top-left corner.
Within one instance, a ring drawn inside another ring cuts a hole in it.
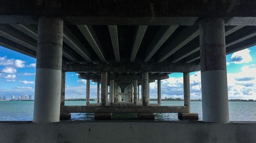
[[[184,106],[188,106],[188,112],[190,112],[189,72],[183,73],[183,91],[184,91]]]

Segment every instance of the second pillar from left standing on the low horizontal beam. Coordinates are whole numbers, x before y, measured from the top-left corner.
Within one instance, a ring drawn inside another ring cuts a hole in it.
[[[108,73],[101,73],[101,106],[108,103]]]

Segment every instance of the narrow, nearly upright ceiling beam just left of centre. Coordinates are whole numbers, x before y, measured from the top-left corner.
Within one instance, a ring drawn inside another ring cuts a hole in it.
[[[117,25],[108,25],[116,62],[120,62]]]

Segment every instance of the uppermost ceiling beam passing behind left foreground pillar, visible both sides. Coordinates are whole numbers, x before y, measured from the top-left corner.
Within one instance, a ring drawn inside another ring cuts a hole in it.
[[[23,24],[10,24],[14,28],[16,28],[18,31],[28,35],[29,37],[37,40],[37,32],[31,30],[28,26]],[[63,45],[63,56],[65,56],[67,59],[71,60],[72,62],[78,63],[78,60],[75,58],[74,55],[71,54],[71,52],[67,52],[68,47],[65,47]]]

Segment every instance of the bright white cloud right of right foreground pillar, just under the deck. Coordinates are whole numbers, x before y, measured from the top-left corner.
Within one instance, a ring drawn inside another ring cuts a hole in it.
[[[249,63],[252,61],[250,50],[243,49],[237,52],[234,52],[231,55],[230,63],[234,64],[242,64],[242,63]]]

